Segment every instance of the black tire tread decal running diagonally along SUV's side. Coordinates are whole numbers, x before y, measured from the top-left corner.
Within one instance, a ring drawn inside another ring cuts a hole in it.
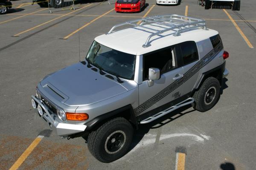
[[[195,75],[201,68],[203,68],[205,65],[207,65],[212,59],[215,58],[215,56],[223,49],[222,42],[220,42],[215,48],[213,48],[208,54],[206,54],[203,58],[201,58],[195,65],[192,66],[188,71],[186,71],[185,74],[183,74],[183,77],[180,79],[175,80],[170,85],[168,85],[166,88],[152,96],[150,99],[143,102],[141,105],[139,105],[137,108],[134,109],[134,113],[136,116],[139,116],[141,113],[143,113],[145,110],[150,108],[152,105],[159,102],[161,99],[163,99],[165,96],[169,95],[174,91],[176,88],[178,88],[180,85],[182,85],[184,82],[186,82],[188,79],[190,79],[193,75]]]

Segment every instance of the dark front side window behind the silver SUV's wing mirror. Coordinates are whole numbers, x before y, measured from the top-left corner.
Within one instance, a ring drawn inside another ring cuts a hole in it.
[[[143,81],[148,79],[149,68],[159,68],[161,74],[175,68],[175,57],[173,48],[164,48],[143,55]]]

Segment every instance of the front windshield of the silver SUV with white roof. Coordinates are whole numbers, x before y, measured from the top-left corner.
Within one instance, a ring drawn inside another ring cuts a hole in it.
[[[90,64],[124,79],[134,78],[135,55],[108,48],[94,41],[86,59]]]

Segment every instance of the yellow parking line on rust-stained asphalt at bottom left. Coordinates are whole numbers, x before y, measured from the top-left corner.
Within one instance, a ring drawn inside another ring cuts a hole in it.
[[[29,147],[22,153],[19,159],[12,165],[9,170],[17,170],[23,161],[29,156],[29,154],[35,149],[35,147],[39,144],[39,142],[43,139],[44,136],[38,136]]]

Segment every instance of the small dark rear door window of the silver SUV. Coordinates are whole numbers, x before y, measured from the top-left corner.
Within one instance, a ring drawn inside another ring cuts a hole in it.
[[[194,41],[187,41],[180,44],[183,65],[198,60],[198,51]]]

